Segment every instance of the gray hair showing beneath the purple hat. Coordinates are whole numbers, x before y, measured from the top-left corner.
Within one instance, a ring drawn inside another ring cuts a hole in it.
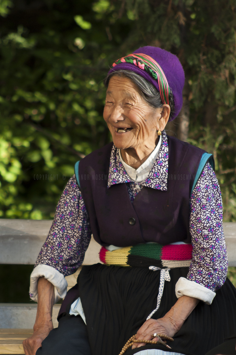
[[[152,83],[144,79],[141,75],[138,75],[137,73],[131,71],[131,70],[116,70],[105,78],[104,80],[104,86],[107,88],[110,78],[112,76],[125,76],[132,80],[132,82],[140,89],[142,97],[144,100],[152,107],[154,108],[161,108],[163,106],[163,103],[161,101],[161,95],[159,91],[153,86]],[[174,111],[174,98],[172,91],[170,89],[170,96],[169,96],[169,104],[170,104],[170,116],[172,112]]]

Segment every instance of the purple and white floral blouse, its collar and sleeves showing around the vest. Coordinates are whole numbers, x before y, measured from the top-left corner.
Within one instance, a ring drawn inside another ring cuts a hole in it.
[[[120,160],[119,151],[113,146],[108,188],[113,184],[125,182],[130,200],[133,201],[143,186],[166,191],[167,180],[168,141],[165,131],[162,134],[158,157],[147,178],[140,183],[128,176]],[[205,165],[190,196],[190,207],[193,258],[187,280],[204,286],[209,292],[210,290],[214,292],[225,282],[227,253],[222,227],[220,187],[209,163]],[[53,224],[35,267],[48,265],[64,276],[74,273],[83,262],[90,237],[89,216],[74,175],[67,182],[57,204]],[[33,299],[33,295],[31,297]]]

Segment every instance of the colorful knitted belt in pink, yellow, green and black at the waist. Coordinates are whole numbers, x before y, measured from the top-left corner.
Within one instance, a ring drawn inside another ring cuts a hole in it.
[[[149,267],[160,269],[188,267],[192,261],[192,244],[138,244],[109,251],[101,247],[100,261],[108,265]]]

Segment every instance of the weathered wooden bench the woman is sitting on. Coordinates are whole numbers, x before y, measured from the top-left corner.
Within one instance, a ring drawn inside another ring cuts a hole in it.
[[[0,219],[0,263],[34,264],[43,245],[51,220]],[[236,266],[236,223],[223,224],[229,266]],[[93,239],[83,265],[99,262],[100,245]],[[33,267],[32,267],[33,268]],[[80,269],[66,277],[68,289],[76,284]],[[1,288],[2,285],[1,285]],[[53,324],[57,327],[60,305],[54,305]],[[37,304],[0,304],[0,354],[24,354],[22,341],[32,334]]]

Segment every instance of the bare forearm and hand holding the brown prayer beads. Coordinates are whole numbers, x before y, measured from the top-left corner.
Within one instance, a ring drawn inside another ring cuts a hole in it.
[[[152,334],[165,334],[173,337],[182,327],[183,322],[197,306],[199,300],[189,296],[180,297],[170,311],[163,318],[158,320],[149,319],[139,328],[136,339],[151,340]],[[158,340],[154,338],[153,340]],[[145,343],[133,344],[132,349],[143,346]]]

